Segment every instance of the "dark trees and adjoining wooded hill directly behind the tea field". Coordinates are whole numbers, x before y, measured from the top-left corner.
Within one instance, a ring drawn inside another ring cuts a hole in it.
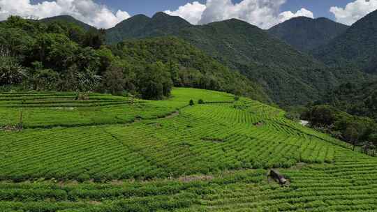
[[[192,86],[268,101],[260,86],[182,40],[159,38],[108,46],[104,30],[77,25],[71,19],[35,22],[10,17],[2,22],[1,88],[127,92],[161,99],[170,96],[172,86]]]

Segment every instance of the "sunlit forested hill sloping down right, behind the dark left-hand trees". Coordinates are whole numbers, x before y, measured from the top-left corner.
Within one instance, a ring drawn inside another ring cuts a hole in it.
[[[227,91],[269,102],[259,84],[176,37],[128,40],[113,45],[112,52],[133,69],[162,62],[168,66],[175,86]]]

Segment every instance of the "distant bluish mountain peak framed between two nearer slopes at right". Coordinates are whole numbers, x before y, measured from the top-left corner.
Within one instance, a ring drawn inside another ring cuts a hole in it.
[[[267,32],[284,40],[297,50],[309,52],[321,45],[326,45],[346,31],[348,26],[339,24],[325,17],[312,19],[309,17],[294,17],[277,24]]]

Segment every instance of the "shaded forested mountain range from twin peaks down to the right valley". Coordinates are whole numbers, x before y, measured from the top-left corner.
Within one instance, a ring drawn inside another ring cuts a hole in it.
[[[341,82],[364,78],[357,70],[329,70],[312,56],[240,20],[192,26],[180,17],[157,13],[151,18],[136,15],[108,31],[109,43],[166,35],[182,38],[230,70],[238,70],[252,82],[258,82],[279,105],[319,100],[325,91]]]

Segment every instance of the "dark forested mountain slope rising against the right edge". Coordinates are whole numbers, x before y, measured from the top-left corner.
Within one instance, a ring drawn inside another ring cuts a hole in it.
[[[353,66],[377,73],[377,10],[353,24],[313,55],[331,66]]]

